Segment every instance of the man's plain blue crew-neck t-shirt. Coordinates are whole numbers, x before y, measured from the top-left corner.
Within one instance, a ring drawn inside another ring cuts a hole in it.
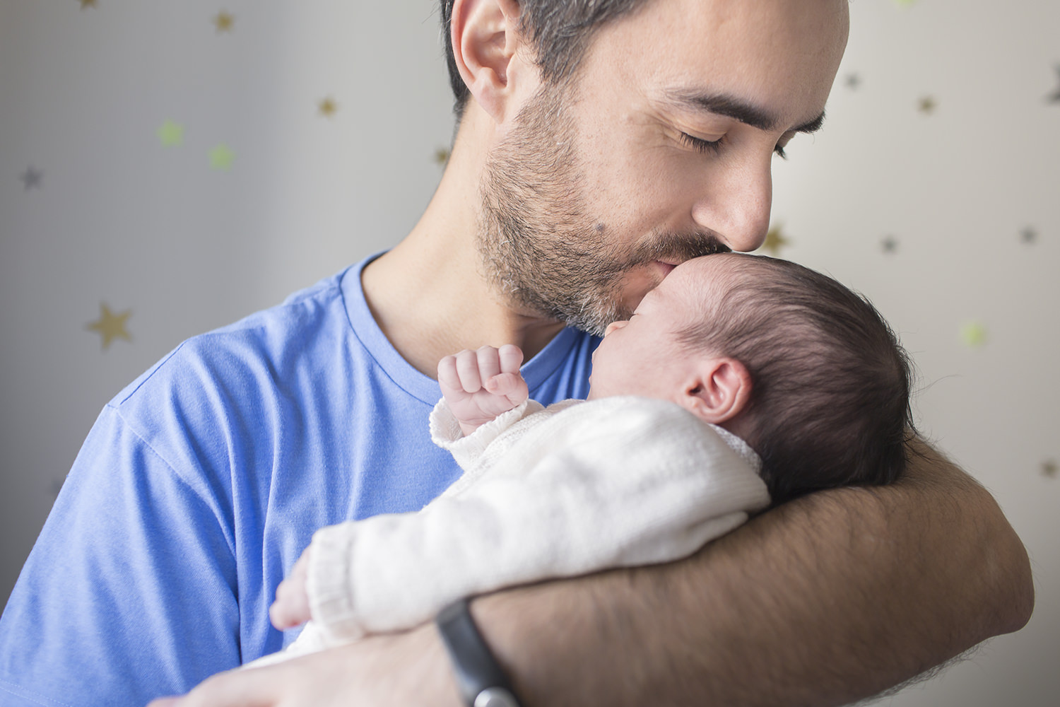
[[[0,704],[144,705],[277,651],[268,606],[315,530],[457,478],[427,429],[438,383],[372,319],[367,262],[104,408],[0,618]],[[531,395],[584,397],[598,341],[564,330],[524,366]]]

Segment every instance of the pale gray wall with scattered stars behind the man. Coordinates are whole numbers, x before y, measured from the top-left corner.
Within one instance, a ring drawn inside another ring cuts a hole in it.
[[[224,33],[197,0],[77,4],[0,0],[4,598],[106,401],[181,339],[395,243],[453,125],[428,0],[227,1]],[[1052,705],[1060,4],[851,13],[827,128],[775,169],[779,252],[893,322],[920,369],[922,428],[996,495],[1038,586],[1026,629],[882,704]],[[180,145],[156,135],[167,120]],[[211,167],[218,144],[227,171]],[[101,303],[131,311],[131,341],[104,350],[86,330]]]

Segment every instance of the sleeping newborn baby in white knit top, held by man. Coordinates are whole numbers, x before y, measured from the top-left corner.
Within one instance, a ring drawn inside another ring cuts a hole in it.
[[[418,513],[318,531],[270,609],[280,629],[313,620],[251,666],[504,586],[673,561],[771,502],[904,466],[906,354],[867,301],[787,261],[676,267],[607,328],[587,401],[528,400],[522,360],[441,360],[431,436],[464,474]]]

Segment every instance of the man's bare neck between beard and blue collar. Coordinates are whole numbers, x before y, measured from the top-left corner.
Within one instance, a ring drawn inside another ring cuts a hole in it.
[[[460,147],[458,141],[458,147]],[[454,148],[420,222],[365,268],[365,299],[384,335],[417,370],[435,377],[438,361],[462,349],[514,343],[527,358],[563,324],[504,303],[481,272],[476,245],[482,155]]]

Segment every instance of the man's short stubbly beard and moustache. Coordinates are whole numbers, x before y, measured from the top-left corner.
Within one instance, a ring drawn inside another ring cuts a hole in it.
[[[658,233],[623,248],[587,213],[567,114],[569,87],[546,85],[485,164],[478,249],[506,304],[602,336],[628,319],[623,276],[656,261],[728,250],[710,233]],[[611,242],[611,243],[608,243]],[[623,252],[624,250],[624,252]]]

